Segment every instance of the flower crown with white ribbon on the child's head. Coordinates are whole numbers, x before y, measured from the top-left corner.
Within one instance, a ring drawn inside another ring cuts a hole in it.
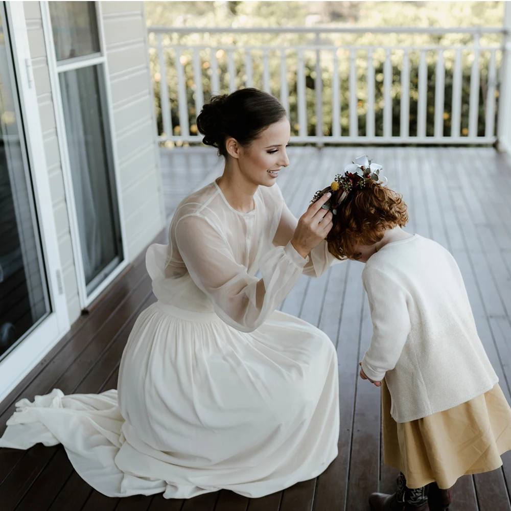
[[[324,194],[330,192],[332,194],[331,199],[321,207],[325,210],[332,210],[332,213],[336,215],[337,208],[353,189],[364,188],[370,180],[385,186],[387,178],[380,176],[380,170],[382,169],[381,165],[372,163],[365,154],[359,156],[350,165],[344,167],[344,175],[337,174],[329,187],[316,192],[311,202],[316,202]]]

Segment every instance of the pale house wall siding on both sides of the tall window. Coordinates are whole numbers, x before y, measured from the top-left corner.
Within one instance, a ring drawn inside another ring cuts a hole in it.
[[[132,261],[165,225],[143,2],[101,2],[117,146],[126,257]],[[71,232],[39,2],[24,2],[45,160],[72,322],[80,315]]]

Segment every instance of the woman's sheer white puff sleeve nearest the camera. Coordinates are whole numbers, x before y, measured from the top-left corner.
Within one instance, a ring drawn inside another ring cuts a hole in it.
[[[259,261],[258,279],[235,260],[227,240],[204,216],[185,215],[175,228],[177,248],[195,285],[210,298],[217,315],[241,332],[264,323],[308,262],[291,243],[272,247]]]

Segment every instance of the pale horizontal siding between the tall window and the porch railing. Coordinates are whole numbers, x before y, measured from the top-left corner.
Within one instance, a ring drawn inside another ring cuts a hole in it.
[[[165,225],[143,2],[101,2],[128,258]]]

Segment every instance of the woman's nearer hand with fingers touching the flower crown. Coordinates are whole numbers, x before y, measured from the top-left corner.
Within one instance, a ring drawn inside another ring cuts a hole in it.
[[[291,244],[304,259],[327,237],[332,228],[332,212],[321,207],[330,199],[330,195],[326,193],[313,202],[298,220]]]

